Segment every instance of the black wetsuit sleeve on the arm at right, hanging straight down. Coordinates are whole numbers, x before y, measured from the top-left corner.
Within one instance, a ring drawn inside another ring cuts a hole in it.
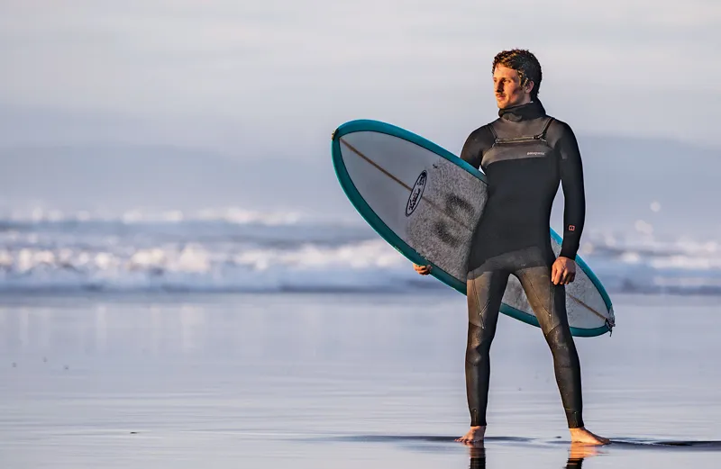
[[[556,143],[564,200],[563,242],[559,256],[575,259],[586,219],[586,194],[578,141],[568,124],[563,123],[562,127],[561,136]]]

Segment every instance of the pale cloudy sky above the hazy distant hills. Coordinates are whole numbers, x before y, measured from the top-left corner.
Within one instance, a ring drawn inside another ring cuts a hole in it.
[[[0,136],[328,159],[370,118],[458,153],[514,47],[580,135],[721,146],[718,0],[0,0]]]

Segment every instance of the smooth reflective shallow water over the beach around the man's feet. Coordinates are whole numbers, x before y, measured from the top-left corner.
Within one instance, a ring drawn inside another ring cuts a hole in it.
[[[576,338],[583,467],[716,467],[717,298],[615,296]],[[12,297],[6,467],[578,467],[540,329],[501,316],[485,449],[468,427],[457,293]]]

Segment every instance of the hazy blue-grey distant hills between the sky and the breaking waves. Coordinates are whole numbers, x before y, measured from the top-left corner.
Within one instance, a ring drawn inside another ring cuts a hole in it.
[[[721,232],[721,150],[674,141],[579,137],[590,227]],[[327,149],[324,151],[327,152]],[[561,223],[561,191],[553,223]],[[58,208],[243,206],[357,217],[330,156],[233,161],[172,147],[94,145],[0,149],[0,203],[40,200]],[[661,203],[660,212],[650,204]],[[355,218],[354,218],[355,219]]]

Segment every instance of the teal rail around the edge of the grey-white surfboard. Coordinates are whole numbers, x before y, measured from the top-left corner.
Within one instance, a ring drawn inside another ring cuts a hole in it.
[[[345,122],[335,131],[333,131],[331,141],[331,155],[333,157],[333,169],[335,170],[335,176],[338,178],[338,182],[340,183],[343,192],[351,201],[351,204],[356,209],[356,211],[360,213],[360,216],[363,217],[363,219],[370,224],[373,230],[375,230],[381,238],[385,239],[388,244],[390,244],[393,248],[396,248],[396,250],[400,254],[405,256],[408,260],[418,265],[431,265],[432,269],[430,275],[433,275],[435,278],[443,282],[443,284],[447,284],[458,292],[464,295],[467,294],[465,283],[460,282],[457,278],[443,271],[441,267],[436,266],[433,262],[425,259],[414,248],[411,248],[406,243],[406,241],[400,239],[400,237],[398,237],[397,234],[393,232],[393,230],[390,230],[388,228],[388,225],[386,225],[386,223],[379,218],[376,212],[373,212],[368,203],[365,202],[363,197],[358,192],[358,189],[355,187],[355,185],[353,185],[351,176],[348,175],[348,170],[346,169],[345,164],[342,160],[340,139],[344,135],[348,135],[349,133],[358,131],[373,131],[385,133],[393,137],[397,137],[398,139],[410,141],[412,143],[415,143],[415,145],[418,145],[419,147],[432,151],[436,155],[451,161],[454,165],[462,167],[471,175],[478,177],[483,182],[486,182],[486,176],[481,173],[477,168],[470,166],[470,164],[468,164],[466,161],[453,155],[447,149],[443,149],[443,147],[436,145],[430,140],[424,139],[420,135],[417,135],[411,131],[406,131],[406,129],[397,127],[387,122],[360,119]],[[553,229],[551,229],[551,236],[552,239],[561,243],[561,236]],[[586,262],[580,256],[576,257],[576,264],[580,266],[580,268],[586,273],[586,275],[589,275],[590,281],[596,286],[596,288],[598,288],[598,292],[601,293],[603,301],[606,303],[606,307],[610,311],[612,308],[611,298],[608,296],[608,293],[604,288],[603,284],[601,284],[600,280],[598,280],[598,277],[593,273],[588,264],[586,264]],[[517,310],[516,308],[513,308],[506,303],[501,304],[500,312],[503,312],[504,314],[507,314],[507,316],[515,318],[516,320],[521,320],[526,324],[530,324],[532,326],[540,328],[538,320],[533,314],[528,314],[525,311]],[[608,324],[595,329],[570,328],[571,334],[577,337],[597,337],[605,334],[606,332],[609,332],[610,330],[611,327],[609,327]]]

